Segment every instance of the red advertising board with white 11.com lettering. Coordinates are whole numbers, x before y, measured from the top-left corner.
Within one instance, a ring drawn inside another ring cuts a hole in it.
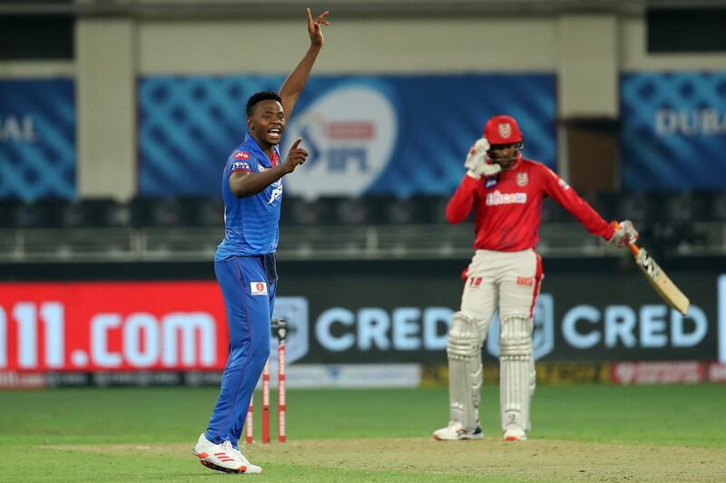
[[[216,282],[0,284],[0,371],[221,371]]]

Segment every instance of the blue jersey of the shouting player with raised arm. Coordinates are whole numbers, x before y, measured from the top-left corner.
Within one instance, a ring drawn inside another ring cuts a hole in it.
[[[280,238],[282,179],[246,198],[237,198],[232,194],[229,179],[235,171],[257,173],[270,169],[279,159],[279,146],[272,148],[270,160],[249,133],[244,142],[232,151],[221,180],[224,239],[217,246],[214,260],[228,260],[232,256],[268,255],[277,250]]]

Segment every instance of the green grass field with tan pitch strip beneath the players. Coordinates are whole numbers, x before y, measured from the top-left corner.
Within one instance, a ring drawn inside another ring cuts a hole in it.
[[[726,385],[541,386],[530,440],[515,443],[501,441],[495,386],[480,411],[486,439],[453,443],[430,437],[448,418],[444,387],[289,390],[289,442],[242,448],[263,467],[254,476],[191,455],[216,395],[0,391],[0,481],[726,480]]]

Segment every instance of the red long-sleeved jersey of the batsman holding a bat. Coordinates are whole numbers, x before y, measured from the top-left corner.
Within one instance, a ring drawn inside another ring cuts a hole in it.
[[[460,223],[476,208],[476,249],[515,252],[535,248],[544,197],[554,198],[593,235],[614,229],[574,189],[544,164],[520,159],[513,169],[489,178],[464,176],[446,206],[446,218]]]

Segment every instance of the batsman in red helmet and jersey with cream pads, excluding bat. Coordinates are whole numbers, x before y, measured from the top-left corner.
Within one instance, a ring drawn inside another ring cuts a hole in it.
[[[633,223],[624,220],[614,229],[551,169],[523,158],[522,149],[522,132],[513,118],[487,121],[484,137],[466,158],[466,176],[446,207],[451,223],[461,223],[476,209],[476,254],[448,334],[450,420],[434,431],[436,440],[484,437],[478,417],[481,350],[497,309],[502,431],[507,441],[526,440],[535,392],[532,315],[543,276],[535,246],[544,198],[554,198],[590,233],[616,246],[627,247],[638,237]]]

